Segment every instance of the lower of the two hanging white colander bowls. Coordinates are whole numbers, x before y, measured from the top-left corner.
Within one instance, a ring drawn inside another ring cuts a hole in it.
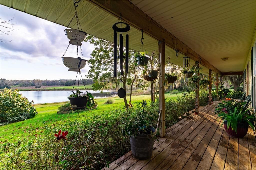
[[[68,71],[78,71],[78,64],[81,61],[80,69],[82,69],[85,65],[87,60],[81,58],[73,58],[73,57],[62,57],[63,64],[68,67]]]

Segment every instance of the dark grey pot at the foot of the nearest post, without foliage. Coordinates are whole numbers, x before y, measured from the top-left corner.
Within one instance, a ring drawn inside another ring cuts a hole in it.
[[[156,131],[153,127],[148,127],[154,133]],[[136,137],[130,137],[132,154],[135,158],[146,160],[151,158],[154,146],[154,139],[151,134],[138,134]]]

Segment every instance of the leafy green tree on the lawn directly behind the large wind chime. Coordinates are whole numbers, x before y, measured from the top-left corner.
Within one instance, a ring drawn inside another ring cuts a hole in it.
[[[114,44],[112,42],[99,39],[88,35],[85,39],[86,42],[94,44],[94,50],[91,53],[91,58],[88,60],[88,65],[90,65],[90,70],[88,72],[87,78],[93,79],[92,89],[94,91],[103,90],[108,88],[109,84],[119,84],[126,90],[126,84],[130,85],[130,99],[132,97],[132,86],[137,78],[136,66],[134,64],[135,51],[129,50],[129,73],[125,71],[125,60],[123,61],[124,65],[124,74],[121,75],[120,71],[118,72],[117,77],[113,77],[114,73]],[[119,50],[118,50],[119,51]],[[124,49],[125,51],[125,49]],[[127,91],[127,90],[126,90]],[[124,97],[125,107],[128,108],[128,102],[126,96]]]

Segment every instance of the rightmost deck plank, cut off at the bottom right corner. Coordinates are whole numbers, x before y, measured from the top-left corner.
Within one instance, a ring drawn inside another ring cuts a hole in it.
[[[252,170],[256,170],[256,138],[252,128],[247,133]]]

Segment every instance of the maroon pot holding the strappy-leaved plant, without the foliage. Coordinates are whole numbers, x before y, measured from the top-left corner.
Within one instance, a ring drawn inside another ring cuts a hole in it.
[[[227,120],[225,120],[224,128],[230,136],[235,137],[235,138],[243,138],[248,132],[249,124],[247,122],[238,123],[237,124],[237,133],[236,133],[235,130],[232,130],[231,125],[229,126],[229,128],[227,128]]]

